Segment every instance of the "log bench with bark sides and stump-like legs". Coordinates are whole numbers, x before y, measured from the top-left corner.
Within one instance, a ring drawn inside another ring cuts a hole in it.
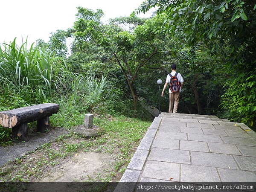
[[[12,128],[12,137],[18,141],[28,141],[28,124],[37,121],[37,131],[44,133],[49,130],[49,116],[57,113],[59,105],[44,103],[8,111],[0,111],[0,125]]]

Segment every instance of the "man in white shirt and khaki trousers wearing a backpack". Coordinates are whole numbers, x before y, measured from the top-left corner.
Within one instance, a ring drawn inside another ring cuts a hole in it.
[[[181,88],[183,87],[183,78],[180,75],[180,73],[176,72],[176,65],[172,64],[171,66],[172,72],[169,73],[166,77],[166,83],[163,86],[163,91],[162,91],[162,97],[164,94],[164,90],[166,89],[168,83],[170,84],[169,86],[169,113],[177,113],[177,108],[179,105],[179,99],[180,99],[180,92]],[[174,106],[173,106],[174,102]]]

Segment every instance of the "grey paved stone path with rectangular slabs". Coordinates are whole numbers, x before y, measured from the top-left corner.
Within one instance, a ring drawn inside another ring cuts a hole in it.
[[[256,133],[216,116],[162,113],[120,182],[256,182]]]

